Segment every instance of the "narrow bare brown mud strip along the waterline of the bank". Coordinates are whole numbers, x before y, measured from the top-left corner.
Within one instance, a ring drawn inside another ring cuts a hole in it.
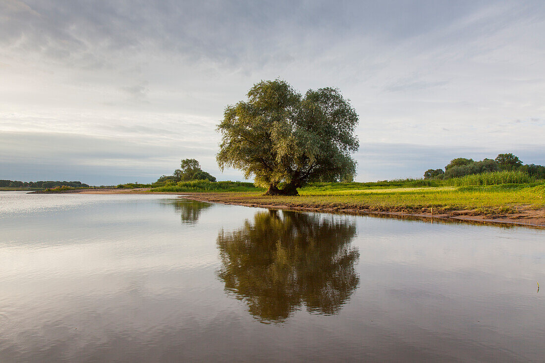
[[[479,224],[498,224],[498,225],[511,225],[511,226],[526,226],[534,228],[545,228],[545,209],[524,209],[520,207],[521,213],[507,214],[501,217],[490,218],[485,215],[468,215],[473,213],[472,210],[452,210],[449,213],[433,214],[432,211],[421,213],[405,213],[398,211],[381,211],[381,210],[366,210],[366,209],[354,209],[354,208],[328,208],[328,207],[298,207],[296,205],[282,205],[271,203],[259,203],[258,201],[251,203],[238,202],[233,199],[229,199],[229,192],[152,192],[149,188],[145,189],[86,189],[86,190],[71,190],[65,191],[71,193],[84,193],[84,194],[162,194],[162,195],[177,195],[185,199],[190,199],[200,202],[219,203],[229,205],[242,205],[244,207],[256,207],[256,208],[273,208],[284,210],[299,210],[299,211],[313,211],[313,212],[325,212],[325,213],[341,213],[351,215],[371,215],[371,216],[387,216],[402,219],[421,219],[421,220],[443,220],[453,222],[470,222]],[[61,192],[62,193],[62,192]],[[528,216],[531,214],[533,216]]]

